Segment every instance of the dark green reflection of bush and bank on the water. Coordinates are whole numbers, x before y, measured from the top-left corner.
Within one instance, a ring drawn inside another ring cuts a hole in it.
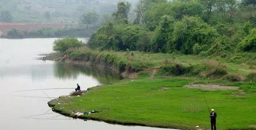
[[[67,64],[56,62],[54,75],[60,79],[76,79],[79,75],[87,75],[96,78],[101,84],[119,80],[122,77],[109,69],[99,69],[93,66]]]

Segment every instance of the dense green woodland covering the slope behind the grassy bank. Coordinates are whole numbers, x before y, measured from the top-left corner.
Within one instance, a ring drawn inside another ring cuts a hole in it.
[[[89,47],[221,57],[256,50],[253,0],[139,0],[134,21],[130,8],[120,1]]]

